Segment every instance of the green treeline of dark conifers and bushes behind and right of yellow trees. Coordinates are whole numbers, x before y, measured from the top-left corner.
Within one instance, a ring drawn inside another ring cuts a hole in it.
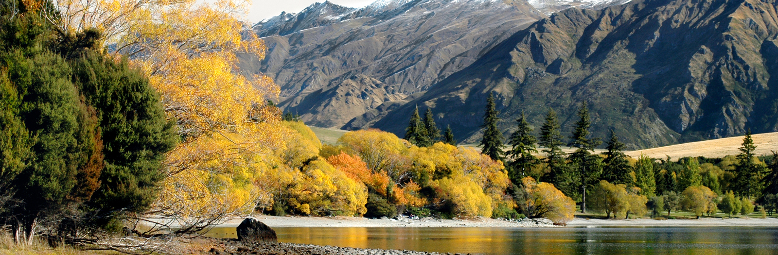
[[[516,120],[516,131],[509,138],[503,138],[502,132],[496,127],[497,111],[494,98],[489,95],[482,125],[482,153],[496,161],[504,162],[510,180],[514,185],[521,186],[522,179],[529,176],[534,180],[552,183],[568,197],[578,202],[581,211],[586,211],[587,197],[603,195],[600,191],[610,185],[621,185],[627,194],[638,194],[646,197],[649,208],[656,207],[656,201],[649,202],[653,197],[675,197],[678,203],[682,198],[690,200],[689,196],[697,192],[710,191],[707,212],[719,209],[721,201],[731,192],[739,201],[756,201],[766,208],[774,210],[773,196],[778,193],[778,160],[774,155],[754,154],[755,145],[751,134],[745,136],[740,148],[741,154],[729,155],[722,159],[706,159],[703,157],[687,157],[672,160],[650,159],[640,156],[632,159],[624,154],[624,144],[619,141],[615,131],[605,141],[606,152],[594,154],[594,148],[602,144],[601,138],[591,138],[589,129],[591,121],[587,103],[581,103],[573,133],[565,138],[559,131],[559,120],[554,110],[548,110],[545,123],[540,129],[540,137],[532,135],[532,128],[527,123],[524,114]],[[411,117],[405,139],[418,146],[428,146],[434,141],[445,141],[455,144],[453,134],[447,129],[447,139],[440,139],[435,126],[433,113],[428,109],[425,118],[421,120],[418,109]],[[564,142],[567,141],[567,142]],[[561,146],[576,148],[575,152],[564,153]],[[508,149],[504,149],[509,147]],[[540,155],[540,156],[538,156]],[[605,183],[603,183],[605,182]],[[765,199],[765,197],[770,199]],[[601,197],[594,197],[600,202]],[[703,199],[703,198],[699,198]],[[672,199],[671,199],[672,200]],[[688,201],[690,204],[692,201]],[[704,203],[703,203],[704,204]],[[713,205],[711,205],[713,204]],[[682,204],[665,204],[661,207],[675,208]],[[689,205],[691,206],[691,205]],[[598,211],[610,214],[602,204],[594,204]],[[522,208],[517,208],[523,211]],[[686,208],[690,211],[698,209]],[[724,210],[724,208],[720,208]],[[629,209],[620,212],[629,214]],[[661,211],[661,210],[660,210]],[[619,211],[617,211],[619,212]]]

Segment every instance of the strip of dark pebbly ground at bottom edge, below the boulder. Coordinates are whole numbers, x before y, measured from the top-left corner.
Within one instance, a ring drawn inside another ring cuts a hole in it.
[[[240,243],[235,239],[226,239],[220,248],[211,250],[217,255],[443,255],[446,253],[426,253],[412,250],[377,250],[335,246],[316,246],[297,243]],[[450,255],[450,253],[449,253]],[[462,255],[462,254],[455,254]],[[469,254],[468,254],[469,255]]]

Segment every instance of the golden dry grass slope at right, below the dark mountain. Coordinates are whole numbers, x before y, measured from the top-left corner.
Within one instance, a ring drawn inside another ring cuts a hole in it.
[[[778,132],[766,134],[753,134],[754,144],[756,145],[756,155],[769,155],[770,151],[778,152]],[[652,158],[666,158],[668,155],[673,159],[688,156],[703,156],[707,158],[721,158],[726,155],[737,155],[743,143],[743,137],[720,138],[708,141],[689,142],[680,145],[670,145],[659,148],[648,148],[640,151],[626,152],[627,155],[637,158],[641,153]]]

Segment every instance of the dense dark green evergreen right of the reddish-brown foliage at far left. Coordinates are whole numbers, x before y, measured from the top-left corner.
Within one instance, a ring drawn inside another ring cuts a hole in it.
[[[178,141],[174,122],[166,120],[149,80],[126,60],[92,53],[72,65],[73,82],[96,110],[104,145],[105,169],[89,205],[98,208],[97,218],[142,212],[165,178],[165,153]]]

